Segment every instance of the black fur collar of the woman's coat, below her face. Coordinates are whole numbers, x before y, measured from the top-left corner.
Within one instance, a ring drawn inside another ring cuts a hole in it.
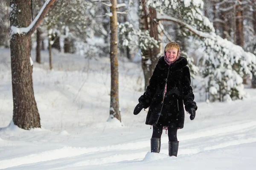
[[[187,64],[187,59],[185,57],[180,56],[180,58],[177,61],[170,65],[170,71],[180,70],[184,68]],[[169,65],[166,63],[163,57],[160,57],[158,61],[158,67],[160,68],[160,70],[166,70],[169,68]]]

